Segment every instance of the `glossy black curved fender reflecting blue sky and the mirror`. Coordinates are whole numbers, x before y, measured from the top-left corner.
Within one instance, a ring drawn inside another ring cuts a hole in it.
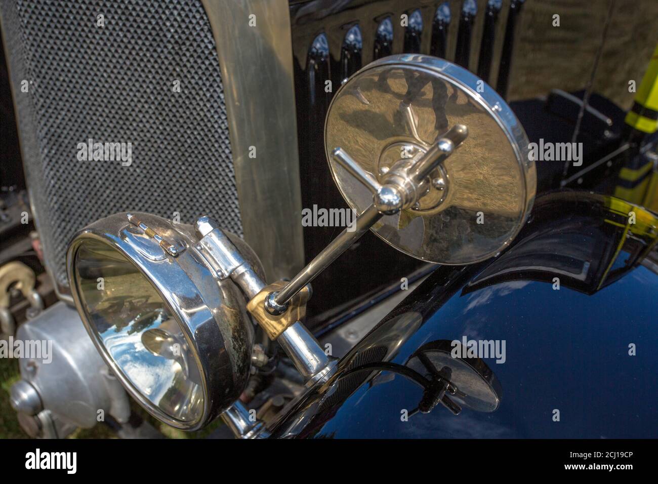
[[[618,199],[545,194],[507,252],[439,267],[274,436],[657,437],[657,227],[654,215]],[[428,375],[414,376],[410,362],[464,336],[505,341],[504,358],[479,360],[497,381],[497,410],[414,412]]]

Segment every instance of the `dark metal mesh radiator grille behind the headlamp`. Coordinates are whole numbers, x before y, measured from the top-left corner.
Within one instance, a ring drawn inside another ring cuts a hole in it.
[[[26,176],[47,265],[101,217],[207,213],[241,235],[215,41],[195,0],[3,1]],[[103,14],[105,26],[97,26]],[[174,92],[180,81],[180,92]],[[78,144],[132,144],[132,165]]]

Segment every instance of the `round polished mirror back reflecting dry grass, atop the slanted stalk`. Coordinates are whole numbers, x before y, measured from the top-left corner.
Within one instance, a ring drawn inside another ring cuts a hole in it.
[[[384,215],[371,229],[405,254],[442,264],[496,255],[532,207],[534,161],[507,103],[448,61],[395,55],[367,65],[341,86],[324,130],[332,176],[351,208],[363,213],[372,192],[354,169],[338,163],[337,148],[384,185],[392,176],[403,178],[455,126],[465,126],[468,136],[424,180],[418,201]]]

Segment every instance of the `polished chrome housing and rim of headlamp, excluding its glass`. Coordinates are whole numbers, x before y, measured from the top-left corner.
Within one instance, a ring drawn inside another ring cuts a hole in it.
[[[130,232],[137,227],[128,221],[126,213],[101,219],[78,232],[68,248],[66,268],[73,300],[103,360],[131,396],[160,421],[178,429],[197,430],[228,408],[247,383],[253,348],[251,319],[238,286],[230,279],[220,279],[197,250],[197,238],[190,226],[174,224],[155,215],[136,215],[156,232],[175,232],[176,245],[182,250],[174,257],[153,238],[142,237],[141,245],[136,244]],[[235,239],[234,242],[244,244]],[[203,410],[198,417],[182,420],[161,410],[126,376],[100,340],[89,322],[74,267],[78,251],[89,240],[109,246],[132,263],[155,288],[178,323],[201,377]],[[154,254],[157,257],[153,257]],[[255,261],[255,267],[261,267],[257,259]]]

